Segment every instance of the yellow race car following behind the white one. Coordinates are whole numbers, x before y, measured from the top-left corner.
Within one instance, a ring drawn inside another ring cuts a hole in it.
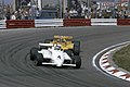
[[[80,41],[73,41],[72,36],[54,36],[53,39],[46,39],[44,44],[61,45],[62,50],[72,50],[75,55],[80,53]]]

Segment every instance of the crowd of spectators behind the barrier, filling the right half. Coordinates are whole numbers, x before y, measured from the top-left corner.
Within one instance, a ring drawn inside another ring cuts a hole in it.
[[[65,18],[130,18],[129,10],[126,7],[122,9],[113,7],[107,7],[106,9],[99,9],[94,3],[93,5],[88,5],[87,2],[77,2],[72,4],[72,7],[66,9]]]

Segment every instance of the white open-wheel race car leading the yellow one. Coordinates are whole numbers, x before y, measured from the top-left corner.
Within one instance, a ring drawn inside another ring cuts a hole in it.
[[[81,66],[79,55],[74,55],[72,50],[64,51],[60,45],[55,44],[39,44],[39,48],[31,48],[30,60],[35,61],[36,65],[73,66],[75,69]]]

